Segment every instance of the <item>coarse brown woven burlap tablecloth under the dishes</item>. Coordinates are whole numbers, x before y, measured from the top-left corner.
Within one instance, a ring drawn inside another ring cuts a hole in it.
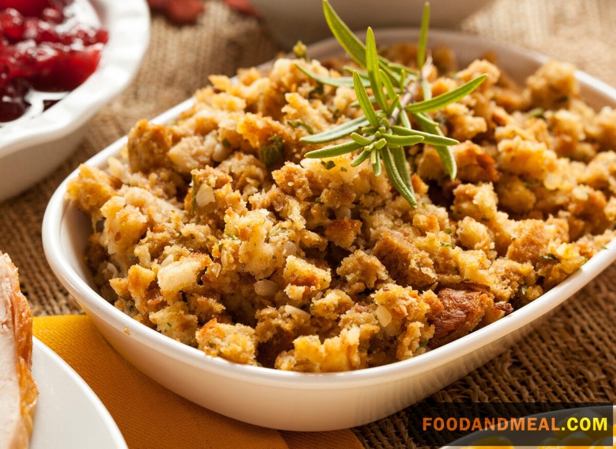
[[[496,0],[462,30],[568,60],[616,85],[616,1]],[[181,51],[179,51],[181,49]],[[0,204],[0,250],[20,268],[34,315],[79,313],[43,255],[41,222],[57,185],[120,138],[203,86],[210,73],[231,75],[280,49],[256,19],[221,2],[206,5],[197,26],[152,20],[152,41],[132,85],[92,119],[83,144],[51,176]],[[50,148],[52,151],[53,148]],[[436,393],[439,400],[616,402],[616,267],[612,267],[516,347]],[[354,429],[366,447],[416,447],[402,410]]]

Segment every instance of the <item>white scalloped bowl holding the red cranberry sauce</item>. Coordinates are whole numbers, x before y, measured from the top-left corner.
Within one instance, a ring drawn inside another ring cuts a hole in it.
[[[79,144],[87,121],[137,73],[150,40],[144,0],[94,0],[109,31],[100,63],[86,81],[43,113],[0,127],[0,201],[52,172]]]

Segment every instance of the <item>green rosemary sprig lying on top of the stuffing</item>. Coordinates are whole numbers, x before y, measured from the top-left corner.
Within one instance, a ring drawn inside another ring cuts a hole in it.
[[[453,91],[432,98],[431,86],[428,82],[428,73],[432,67],[432,59],[427,52],[430,15],[428,2],[424,5],[421,19],[417,52],[418,71],[379,56],[372,28],[367,30],[364,45],[342,22],[328,0],[323,0],[323,14],[325,14],[325,20],[331,33],[339,44],[365,71],[345,67],[344,70],[352,76],[334,78],[318,75],[299,64],[296,66],[317,83],[334,87],[353,87],[357,95],[356,106],[361,108],[363,116],[342,123],[333,129],[302,137],[301,141],[309,144],[325,144],[343,137],[350,137],[350,140],[346,142],[308,152],[306,157],[332,158],[360,150],[351,162],[351,166],[359,166],[369,159],[375,176],[379,176],[384,165],[392,185],[415,208],[417,200],[413,184],[411,184],[405,147],[419,143],[434,145],[447,174],[455,179],[457,171],[455,158],[448,145],[455,145],[459,142],[445,137],[439,124],[427,113],[463,99],[484,81],[486,75],[478,76]],[[370,89],[371,95],[367,89]],[[423,100],[413,102],[417,89],[423,92]],[[408,114],[416,119],[421,131],[411,127]]]

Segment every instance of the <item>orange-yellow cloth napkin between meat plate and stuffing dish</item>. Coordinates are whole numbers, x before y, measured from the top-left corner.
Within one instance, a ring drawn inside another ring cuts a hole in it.
[[[131,449],[363,447],[349,430],[275,431],[200,407],[137,371],[84,315],[34,318],[34,336],[94,390]]]

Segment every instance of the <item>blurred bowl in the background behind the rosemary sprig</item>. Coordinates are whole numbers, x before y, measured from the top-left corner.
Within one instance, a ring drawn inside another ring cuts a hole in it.
[[[330,0],[351,30],[419,26],[425,0]],[[453,28],[492,0],[437,0],[430,4],[431,28]],[[331,36],[321,0],[251,0],[268,31],[286,49],[301,39],[309,44]]]

